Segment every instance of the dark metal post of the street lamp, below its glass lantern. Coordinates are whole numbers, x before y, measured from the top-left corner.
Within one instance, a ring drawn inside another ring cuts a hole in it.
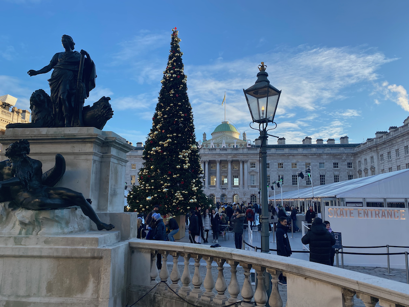
[[[267,131],[263,125],[263,130],[260,131],[261,138],[261,252],[270,253],[269,238],[270,232],[268,227],[268,191],[267,191]]]

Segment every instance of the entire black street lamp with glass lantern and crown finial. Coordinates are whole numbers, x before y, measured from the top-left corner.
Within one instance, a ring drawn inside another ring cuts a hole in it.
[[[244,95],[247,100],[250,114],[252,115],[253,122],[259,124],[261,148],[261,252],[269,253],[269,227],[268,227],[268,187],[267,187],[267,125],[273,123],[274,116],[276,114],[278,100],[280,99],[281,91],[270,84],[265,72],[266,66],[264,62],[259,65],[260,72],[257,74],[256,83],[248,87],[247,90],[243,89]],[[277,124],[276,124],[277,126]],[[250,126],[253,128],[252,126]],[[275,128],[275,127],[274,127]],[[274,129],[273,128],[273,129]],[[255,129],[255,128],[253,128]]]

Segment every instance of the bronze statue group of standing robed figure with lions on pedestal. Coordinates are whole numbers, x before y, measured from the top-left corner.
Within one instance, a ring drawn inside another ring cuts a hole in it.
[[[95,64],[89,54],[74,51],[75,42],[69,35],[63,35],[64,52],[56,53],[46,67],[28,74],[45,74],[52,69],[48,80],[51,97],[43,90],[37,90],[30,98],[32,122],[9,124],[7,128],[30,127],[96,127],[102,129],[112,117],[109,97],[102,97],[93,106],[83,107],[85,98],[95,88],[97,77]]]

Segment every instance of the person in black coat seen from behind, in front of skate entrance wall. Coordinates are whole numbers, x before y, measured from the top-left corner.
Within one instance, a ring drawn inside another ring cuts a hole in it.
[[[301,239],[304,245],[310,245],[310,261],[324,265],[331,265],[331,248],[335,238],[328,232],[323,220],[315,217],[308,231]]]

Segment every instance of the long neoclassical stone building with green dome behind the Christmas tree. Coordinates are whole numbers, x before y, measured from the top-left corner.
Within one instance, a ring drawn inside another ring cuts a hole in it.
[[[271,138],[270,138],[271,140]],[[260,202],[260,141],[254,144],[240,139],[239,131],[228,121],[222,122],[207,139],[199,141],[200,161],[204,172],[203,191],[214,202]],[[302,144],[267,145],[267,183],[276,193],[351,180],[409,168],[409,118],[403,126],[390,127],[390,131],[377,132],[374,139],[362,144],[350,144],[348,137],[317,139],[306,137]],[[127,155],[126,181],[128,190],[138,184],[138,172],[143,166],[143,146],[138,143]],[[298,174],[311,169],[311,179]],[[274,181],[283,179],[278,188]],[[274,191],[269,188],[269,196]]]

